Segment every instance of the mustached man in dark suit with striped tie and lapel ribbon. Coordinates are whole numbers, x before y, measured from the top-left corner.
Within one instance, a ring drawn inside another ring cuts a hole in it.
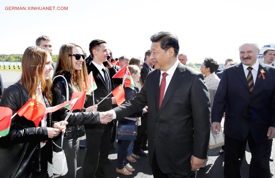
[[[212,108],[215,134],[226,107],[225,178],[239,178],[246,143],[251,151],[249,177],[270,177],[269,158],[275,137],[275,68],[259,64],[259,47],[240,45],[241,63],[224,70]]]

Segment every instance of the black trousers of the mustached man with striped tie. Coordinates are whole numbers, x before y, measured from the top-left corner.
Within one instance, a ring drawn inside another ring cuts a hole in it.
[[[251,151],[249,177],[270,178],[269,158],[272,140],[268,140],[265,143],[255,143],[251,133],[248,134],[247,140],[244,141],[225,136],[224,177],[241,178],[240,167],[247,142]]]

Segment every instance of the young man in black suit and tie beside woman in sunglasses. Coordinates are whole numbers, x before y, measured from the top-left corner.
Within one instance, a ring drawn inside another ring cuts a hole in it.
[[[92,60],[87,64],[88,73],[93,72],[97,89],[94,90],[93,97],[87,98],[84,107],[98,104],[105,96],[112,92],[112,83],[109,70],[104,67],[103,62],[109,55],[104,40],[93,40],[90,42],[89,51]],[[87,58],[88,59],[88,58]],[[98,105],[98,111],[108,111],[112,109],[112,104],[116,104],[114,97],[107,97]],[[105,165],[109,154],[113,122],[106,125],[86,124],[86,155],[83,166],[83,177],[94,178],[106,177]]]

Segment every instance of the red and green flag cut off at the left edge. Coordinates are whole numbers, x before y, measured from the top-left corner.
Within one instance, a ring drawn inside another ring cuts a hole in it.
[[[9,133],[11,116],[13,111],[8,107],[0,107],[0,136],[6,136]]]

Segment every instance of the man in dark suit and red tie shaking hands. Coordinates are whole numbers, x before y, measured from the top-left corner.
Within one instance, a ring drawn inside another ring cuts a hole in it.
[[[202,74],[177,59],[178,37],[170,32],[151,36],[150,72],[141,91],[108,111],[123,118],[148,106],[149,162],[155,178],[196,176],[207,156],[210,99]]]

